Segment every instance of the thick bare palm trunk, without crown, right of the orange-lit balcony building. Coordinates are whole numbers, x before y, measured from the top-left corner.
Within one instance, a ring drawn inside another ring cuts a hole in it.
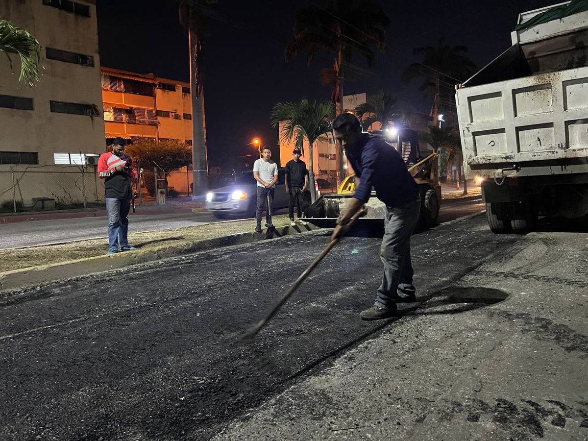
[[[196,34],[195,21],[190,21],[190,92],[192,98],[192,169],[193,192],[192,199],[202,195],[208,188],[208,155],[206,155],[206,130],[204,121],[204,99],[199,82],[198,55],[201,42]]]

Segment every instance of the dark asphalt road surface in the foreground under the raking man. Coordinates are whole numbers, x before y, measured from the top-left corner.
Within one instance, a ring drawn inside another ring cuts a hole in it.
[[[346,238],[259,335],[239,336],[319,233],[0,300],[0,439],[586,439],[588,235],[413,236],[419,302],[361,322],[380,239]]]

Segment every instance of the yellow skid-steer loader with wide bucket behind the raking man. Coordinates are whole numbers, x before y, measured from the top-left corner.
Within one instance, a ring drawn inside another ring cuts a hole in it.
[[[422,156],[419,145],[418,133],[408,128],[387,128],[384,131],[372,131],[375,135],[383,136],[390,148],[395,148],[406,162],[408,171],[419,186],[421,196],[421,208],[417,229],[431,228],[437,225],[441,201],[441,187],[439,186],[439,167],[437,153],[432,152]],[[315,203],[304,212],[305,220],[316,226],[332,228],[339,215],[348,207],[355,184],[355,175],[349,175],[339,185],[337,193],[320,196]],[[368,214],[358,220],[358,227],[380,230],[386,217],[385,204],[376,198],[372,191],[366,204]]]

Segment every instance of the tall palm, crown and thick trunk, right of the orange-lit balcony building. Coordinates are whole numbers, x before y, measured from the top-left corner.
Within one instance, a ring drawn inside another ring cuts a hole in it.
[[[190,90],[192,97],[192,168],[193,197],[208,187],[208,155],[204,122],[204,96],[202,93],[202,46],[208,35],[206,5],[215,0],[180,0],[179,21],[188,29],[190,48]]]

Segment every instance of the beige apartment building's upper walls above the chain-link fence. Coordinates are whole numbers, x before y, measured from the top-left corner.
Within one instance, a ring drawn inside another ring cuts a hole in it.
[[[0,165],[54,165],[55,155],[81,164],[102,153],[95,1],[4,1],[0,16],[35,35],[44,66],[38,85],[20,88],[18,57],[14,71],[0,61]]]

